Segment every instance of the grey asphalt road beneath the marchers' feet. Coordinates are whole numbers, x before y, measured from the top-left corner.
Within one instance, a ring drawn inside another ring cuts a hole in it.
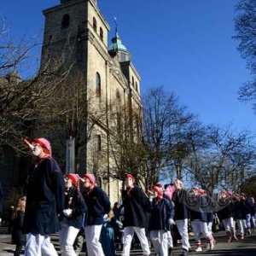
[[[0,229],[0,256],[13,256],[15,251],[15,245],[10,243],[10,235],[6,234],[7,230],[1,228]],[[203,247],[203,251],[200,253],[195,252],[195,241],[193,241],[193,237],[190,238],[191,244],[191,252],[189,255],[216,255],[216,256],[224,256],[224,255],[235,255],[235,256],[256,256],[256,232],[252,233],[250,236],[246,236],[242,241],[235,242],[227,242],[227,238],[225,236],[225,232],[221,231],[217,234],[214,234],[216,239],[215,247],[212,251],[207,250],[207,247]],[[54,239],[55,240],[55,239]],[[206,245],[205,241],[202,239],[202,244]],[[57,241],[55,240],[55,245],[57,246]],[[174,256],[179,256],[182,251],[181,245],[177,245],[174,247]],[[120,255],[121,252],[118,252]],[[21,254],[22,255],[22,254]],[[81,253],[81,256],[85,255],[85,253]],[[137,248],[131,252],[131,255],[140,255],[142,256],[142,251]],[[154,255],[151,254],[151,255]]]

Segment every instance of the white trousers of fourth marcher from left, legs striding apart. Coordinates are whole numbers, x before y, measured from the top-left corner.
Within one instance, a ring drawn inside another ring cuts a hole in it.
[[[134,235],[134,232],[137,234],[137,238],[141,242],[141,247],[143,249],[143,255],[147,256],[150,254],[148,239],[145,235],[145,229],[138,227],[125,227],[124,229],[124,247],[122,256],[130,256],[131,250],[131,241]]]

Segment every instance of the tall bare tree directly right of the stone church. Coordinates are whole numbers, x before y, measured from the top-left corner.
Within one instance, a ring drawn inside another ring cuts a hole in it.
[[[143,143],[152,183],[173,176],[183,178],[183,160],[192,150],[200,127],[195,115],[179,103],[173,92],[163,87],[148,90],[143,97]]]

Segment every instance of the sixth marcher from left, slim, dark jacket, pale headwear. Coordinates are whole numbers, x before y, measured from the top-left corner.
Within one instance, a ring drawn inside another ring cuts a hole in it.
[[[189,255],[189,232],[188,232],[188,201],[187,191],[183,189],[183,183],[179,179],[174,182],[175,192],[172,195],[172,201],[175,207],[174,221],[177,224],[177,230],[182,237],[183,252],[181,256]]]

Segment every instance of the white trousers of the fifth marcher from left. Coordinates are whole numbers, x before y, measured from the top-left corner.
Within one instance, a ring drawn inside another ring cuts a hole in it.
[[[153,244],[155,253],[159,253],[160,256],[168,255],[168,241],[166,230],[151,230],[150,240]]]

